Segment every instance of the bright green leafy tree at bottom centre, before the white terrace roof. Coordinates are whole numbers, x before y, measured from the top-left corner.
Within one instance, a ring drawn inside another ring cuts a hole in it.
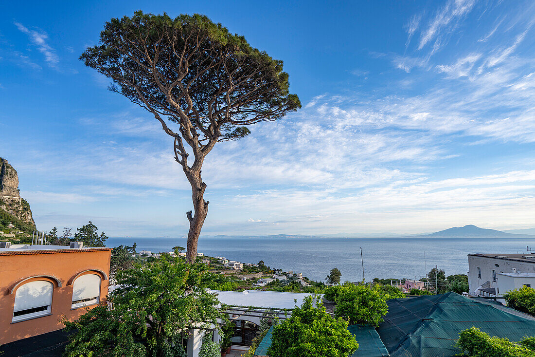
[[[347,321],[334,319],[320,302],[308,296],[292,316],[273,329],[268,355],[272,357],[347,357],[358,348]]]

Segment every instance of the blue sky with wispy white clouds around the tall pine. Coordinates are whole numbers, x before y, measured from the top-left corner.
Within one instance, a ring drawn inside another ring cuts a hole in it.
[[[535,227],[531,1],[3,2],[0,156],[39,229],[187,233],[172,141],[78,61],[137,9],[244,35],[303,103],[210,153],[203,234]]]

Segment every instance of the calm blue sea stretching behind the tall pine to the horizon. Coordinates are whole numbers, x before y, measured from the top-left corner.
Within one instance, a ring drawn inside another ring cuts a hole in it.
[[[186,247],[186,238],[110,237],[108,247],[137,243],[137,251],[171,251]],[[524,253],[529,238],[323,238],[200,237],[198,252],[242,263],[264,261],[271,268],[303,273],[323,281],[334,267],[342,281],[425,277],[433,267],[446,275],[466,274],[468,254]],[[361,259],[362,248],[362,259]],[[363,271],[364,263],[364,271]]]

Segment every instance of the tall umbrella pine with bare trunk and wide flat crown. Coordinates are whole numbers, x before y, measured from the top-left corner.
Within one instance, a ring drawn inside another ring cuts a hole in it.
[[[142,11],[108,21],[100,44],[80,59],[111,78],[111,91],[148,110],[173,138],[175,161],[192,186],[194,209],[186,213],[186,257],[192,262],[208,213],[201,177],[208,153],[218,142],[247,136],[248,125],[278,120],[301,107],[297,95],[289,94],[282,61],[206,16],[172,19]]]

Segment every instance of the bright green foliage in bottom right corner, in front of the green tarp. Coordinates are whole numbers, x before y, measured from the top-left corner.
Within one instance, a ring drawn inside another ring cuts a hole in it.
[[[525,339],[531,346],[531,339]],[[470,357],[533,357],[535,351],[507,338],[490,337],[487,333],[476,328],[461,331],[457,341],[463,355]]]

